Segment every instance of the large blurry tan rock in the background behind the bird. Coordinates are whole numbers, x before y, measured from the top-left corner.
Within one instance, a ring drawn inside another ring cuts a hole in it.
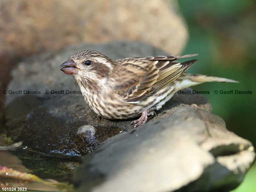
[[[188,38],[176,0],[8,0],[0,9],[1,58],[115,40],[142,41],[180,54]]]

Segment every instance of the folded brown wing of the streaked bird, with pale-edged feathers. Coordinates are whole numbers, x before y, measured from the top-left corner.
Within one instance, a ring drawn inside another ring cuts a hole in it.
[[[145,97],[161,90],[166,85],[177,79],[197,60],[183,63],[174,60],[192,57],[184,56],[157,56],[144,58],[126,58],[116,60],[119,82],[116,82],[115,90],[128,103],[137,103]]]

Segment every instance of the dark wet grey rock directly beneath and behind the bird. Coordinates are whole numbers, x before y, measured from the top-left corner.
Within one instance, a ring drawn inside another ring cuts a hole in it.
[[[81,156],[94,150],[107,138],[129,129],[131,120],[102,118],[99,121],[84,102],[74,78],[60,71],[60,64],[73,53],[84,49],[100,51],[112,59],[165,54],[143,43],[114,42],[75,45],[24,60],[12,71],[5,101],[5,125],[14,141],[23,141],[24,145],[43,153]],[[149,121],[168,117],[176,109],[192,104],[211,110],[205,97],[180,94]],[[77,135],[79,127],[84,125],[93,126],[95,133],[85,133],[85,137]]]

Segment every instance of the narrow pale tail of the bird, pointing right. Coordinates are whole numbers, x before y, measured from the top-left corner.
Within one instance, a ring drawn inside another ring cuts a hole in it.
[[[222,77],[211,77],[206,75],[195,75],[193,74],[190,78],[191,81],[194,82],[230,82],[230,83],[239,83],[239,81],[235,81],[232,79],[222,78]]]

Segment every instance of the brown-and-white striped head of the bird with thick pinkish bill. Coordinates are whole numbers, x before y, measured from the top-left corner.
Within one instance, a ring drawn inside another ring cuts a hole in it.
[[[90,79],[92,81],[108,78],[115,66],[115,61],[105,55],[84,50],[72,55],[60,67],[65,74],[73,74],[75,79]]]

